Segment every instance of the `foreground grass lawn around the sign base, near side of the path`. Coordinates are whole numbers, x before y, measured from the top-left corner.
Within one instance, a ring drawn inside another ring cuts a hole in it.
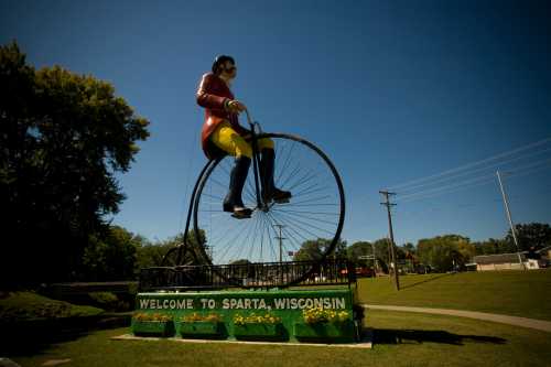
[[[548,366],[550,334],[462,317],[370,311],[372,349],[111,341],[128,328],[74,336],[25,353],[21,366]],[[32,337],[32,336],[31,336]]]

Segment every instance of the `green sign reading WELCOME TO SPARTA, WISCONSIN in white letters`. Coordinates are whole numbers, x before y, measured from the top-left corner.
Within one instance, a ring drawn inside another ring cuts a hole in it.
[[[172,316],[176,332],[180,327],[207,327],[202,325],[182,324],[180,321],[192,314],[216,315],[223,330],[223,337],[237,338],[242,332],[236,326],[235,320],[251,315],[253,317],[277,317],[279,325],[247,326],[262,331],[276,327],[280,330],[279,337],[298,342],[301,335],[309,336],[318,333],[315,327],[305,324],[304,312],[312,309],[332,310],[345,315],[342,324],[320,325],[328,327],[321,335],[329,341],[353,341],[355,326],[353,324],[353,292],[350,289],[317,289],[317,290],[244,290],[244,291],[205,291],[205,292],[155,292],[139,293],[136,311],[138,313],[163,314]],[[315,311],[317,312],[317,311]],[[195,316],[195,315],[193,315]]]

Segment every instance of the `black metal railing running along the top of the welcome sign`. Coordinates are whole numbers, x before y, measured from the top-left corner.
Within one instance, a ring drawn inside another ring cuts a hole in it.
[[[220,266],[144,268],[140,291],[223,288],[285,288],[289,285],[352,284],[354,266],[347,260],[260,262]]]

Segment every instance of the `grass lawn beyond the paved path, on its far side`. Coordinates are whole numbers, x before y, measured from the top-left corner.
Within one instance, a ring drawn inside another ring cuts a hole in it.
[[[360,303],[469,310],[551,320],[551,269],[358,280]]]

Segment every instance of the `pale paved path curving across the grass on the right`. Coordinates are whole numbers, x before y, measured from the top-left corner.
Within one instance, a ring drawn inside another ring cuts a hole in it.
[[[543,332],[551,333],[551,322],[536,319],[507,316],[495,313],[461,311],[461,310],[446,310],[446,309],[428,309],[428,307],[408,307],[408,306],[393,306],[381,304],[363,304],[366,309],[371,310],[388,310],[388,311],[403,311],[403,312],[421,312],[433,313],[440,315],[451,315],[460,317],[469,317],[484,321],[491,321],[501,324],[509,324],[521,327],[536,328]]]

